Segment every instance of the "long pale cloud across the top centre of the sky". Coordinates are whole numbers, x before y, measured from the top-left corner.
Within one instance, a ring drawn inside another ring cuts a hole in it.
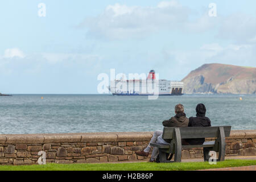
[[[107,39],[141,38],[152,32],[181,27],[190,10],[177,1],[163,1],[155,7],[127,6],[116,3],[94,18],[86,18],[79,27],[88,34]]]

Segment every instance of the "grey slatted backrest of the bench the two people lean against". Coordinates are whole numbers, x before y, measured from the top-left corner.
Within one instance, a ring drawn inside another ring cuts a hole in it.
[[[179,127],[181,138],[212,138],[218,137],[218,128],[224,127],[225,137],[229,137],[231,126],[210,126],[210,127]],[[163,139],[174,137],[174,127],[164,127]]]

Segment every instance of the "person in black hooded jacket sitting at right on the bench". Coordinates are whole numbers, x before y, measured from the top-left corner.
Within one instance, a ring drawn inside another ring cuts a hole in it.
[[[210,125],[210,119],[205,117],[206,108],[204,104],[199,104],[196,106],[196,117],[190,117],[188,122],[188,127],[206,127]],[[188,144],[203,144],[204,138],[196,139],[186,139]]]

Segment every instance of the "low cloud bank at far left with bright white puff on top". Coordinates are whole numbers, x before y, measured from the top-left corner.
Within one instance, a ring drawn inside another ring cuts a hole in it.
[[[0,56],[1,75],[35,74],[73,71],[92,74],[101,68],[102,56],[83,53],[31,53],[24,56],[19,49],[6,49]]]

